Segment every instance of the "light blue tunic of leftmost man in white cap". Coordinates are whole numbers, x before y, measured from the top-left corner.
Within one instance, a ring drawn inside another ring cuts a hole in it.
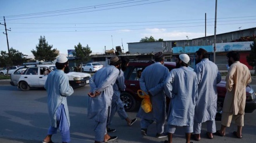
[[[44,88],[48,95],[48,112],[52,127],[57,127],[56,109],[63,104],[67,121],[70,126],[69,109],[67,108],[67,96],[74,93],[73,88],[69,85],[69,78],[60,69],[52,71],[45,82]]]

